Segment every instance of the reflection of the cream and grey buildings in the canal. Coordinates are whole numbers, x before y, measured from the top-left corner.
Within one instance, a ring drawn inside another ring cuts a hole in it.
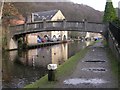
[[[14,62],[27,66],[46,67],[50,63],[60,65],[68,59],[68,44],[65,43],[18,52],[18,59],[15,59],[15,55],[17,54],[13,55],[12,53],[11,55],[12,58],[14,56]]]

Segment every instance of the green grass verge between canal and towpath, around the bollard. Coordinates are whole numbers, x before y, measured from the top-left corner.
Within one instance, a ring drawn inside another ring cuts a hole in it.
[[[85,56],[87,51],[88,48],[81,50],[69,58],[64,64],[60,65],[56,72],[57,79],[66,77],[71,74],[75,69],[76,64]],[[25,86],[25,88],[54,88],[57,82],[57,80],[54,82],[48,82],[48,75],[45,75],[36,82]]]

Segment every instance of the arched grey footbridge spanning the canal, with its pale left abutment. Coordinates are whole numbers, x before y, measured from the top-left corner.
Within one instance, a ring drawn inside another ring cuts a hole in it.
[[[18,38],[25,37],[26,34],[30,33],[45,31],[78,31],[100,33],[105,37],[107,35],[107,29],[104,23],[86,21],[41,21],[10,26],[9,30],[9,49],[17,48]]]

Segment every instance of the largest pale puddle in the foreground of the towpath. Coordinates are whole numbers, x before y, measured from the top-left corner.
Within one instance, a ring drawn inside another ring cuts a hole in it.
[[[93,84],[93,85],[99,85],[107,83],[108,81],[105,81],[103,79],[94,78],[94,79],[85,79],[85,78],[73,78],[65,80],[64,84],[71,84],[71,85],[78,85],[78,84]]]

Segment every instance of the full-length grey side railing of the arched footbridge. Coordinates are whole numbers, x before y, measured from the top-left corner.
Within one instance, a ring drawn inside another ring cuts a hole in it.
[[[83,31],[83,32],[103,32],[103,23],[86,22],[86,21],[41,21],[33,23],[25,23],[22,25],[10,26],[11,30],[16,31],[15,36],[29,34],[41,31],[67,30],[67,31]]]

